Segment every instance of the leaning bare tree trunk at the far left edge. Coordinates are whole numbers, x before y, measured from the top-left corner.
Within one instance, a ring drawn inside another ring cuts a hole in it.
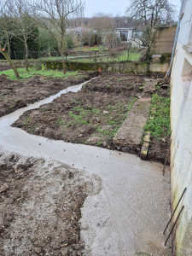
[[[19,73],[15,67],[14,62],[10,58],[10,38],[11,26],[13,20],[9,16],[5,1],[0,3],[0,53],[9,62],[10,67],[13,68],[16,78],[20,78]],[[8,49],[8,50],[7,50]]]

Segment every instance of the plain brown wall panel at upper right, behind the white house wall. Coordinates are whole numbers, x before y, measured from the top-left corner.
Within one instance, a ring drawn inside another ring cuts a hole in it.
[[[161,27],[158,29],[151,53],[154,55],[171,54],[177,27]]]

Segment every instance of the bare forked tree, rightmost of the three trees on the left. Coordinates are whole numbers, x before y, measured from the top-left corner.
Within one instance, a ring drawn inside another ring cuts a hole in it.
[[[67,27],[70,15],[82,12],[81,0],[39,0],[33,6],[35,19],[56,40],[61,52],[63,73],[66,73],[65,55],[67,49]]]

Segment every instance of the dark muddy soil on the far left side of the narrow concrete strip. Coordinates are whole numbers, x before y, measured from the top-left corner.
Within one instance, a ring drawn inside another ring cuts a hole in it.
[[[26,80],[9,80],[0,76],[0,117],[16,109],[55,95],[69,86],[83,83],[96,76],[96,73],[79,73],[67,79],[50,79],[37,76]]]

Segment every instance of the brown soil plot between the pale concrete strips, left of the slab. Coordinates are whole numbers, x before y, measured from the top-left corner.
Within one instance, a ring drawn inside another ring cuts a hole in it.
[[[139,75],[102,74],[78,93],[69,92],[52,103],[27,111],[13,126],[67,143],[118,149],[113,145],[113,137],[132,104],[151,94],[143,92],[143,79]],[[142,144],[135,153],[139,154],[141,148]],[[166,141],[153,140],[148,159],[163,162],[166,149]]]

